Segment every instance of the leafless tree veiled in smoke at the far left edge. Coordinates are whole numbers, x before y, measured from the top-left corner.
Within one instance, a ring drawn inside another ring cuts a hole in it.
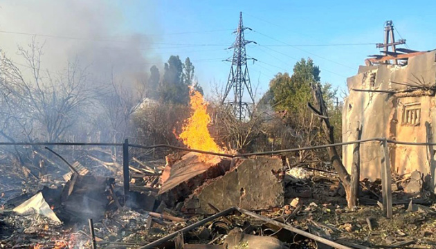
[[[42,71],[42,46],[35,42],[27,49],[19,47],[19,55],[26,64],[12,62],[4,53],[0,57],[0,134],[8,140],[65,140],[69,129],[93,104],[95,84],[89,84],[86,68],[77,62],[69,63],[62,73]]]

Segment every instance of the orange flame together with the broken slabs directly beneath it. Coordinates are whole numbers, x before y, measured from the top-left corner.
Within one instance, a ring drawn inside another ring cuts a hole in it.
[[[224,152],[210,136],[208,104],[201,93],[190,92],[192,115],[179,138],[191,149]],[[236,170],[238,169],[238,170]],[[280,158],[229,158],[190,152],[167,160],[158,194],[169,207],[183,212],[212,214],[239,206],[262,210],[284,202]],[[183,205],[179,205],[183,204]]]

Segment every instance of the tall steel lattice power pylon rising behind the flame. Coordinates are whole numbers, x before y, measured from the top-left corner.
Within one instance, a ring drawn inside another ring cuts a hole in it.
[[[232,108],[233,114],[237,120],[242,121],[246,119],[246,115],[250,115],[252,108],[254,106],[254,96],[253,90],[251,89],[250,75],[248,74],[247,59],[254,58],[246,57],[246,44],[250,44],[253,41],[246,41],[244,37],[244,30],[251,30],[251,28],[244,27],[242,23],[242,12],[239,13],[239,25],[237,30],[235,30],[236,40],[232,46],[233,48],[233,58],[226,59],[228,62],[232,62],[230,68],[230,73],[228,75],[226,91],[224,91],[223,99],[221,104],[226,104],[228,107]],[[253,42],[255,43],[255,42]],[[230,90],[233,89],[234,99],[233,101],[227,100]],[[242,98],[244,96],[244,89],[248,92],[250,100],[248,102],[244,101]]]

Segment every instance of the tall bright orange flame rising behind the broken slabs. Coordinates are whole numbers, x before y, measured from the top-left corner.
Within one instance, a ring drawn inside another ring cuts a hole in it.
[[[215,140],[210,136],[208,124],[210,116],[207,112],[208,102],[203,100],[203,95],[198,91],[190,90],[190,107],[192,114],[183,124],[179,138],[191,149],[203,151],[221,152]],[[206,155],[201,154],[201,160],[206,160]]]

